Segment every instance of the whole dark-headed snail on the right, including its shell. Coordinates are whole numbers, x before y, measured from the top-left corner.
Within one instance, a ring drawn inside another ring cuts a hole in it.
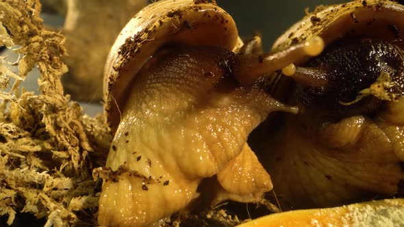
[[[302,58],[285,71],[296,83],[283,76],[273,86],[275,98],[298,106],[299,114],[281,116],[279,131],[263,124],[254,136],[267,142],[250,144],[283,209],[338,206],[398,192],[404,161],[403,16],[404,6],[392,1],[332,5],[275,43],[277,51],[311,36],[327,44],[318,57]]]

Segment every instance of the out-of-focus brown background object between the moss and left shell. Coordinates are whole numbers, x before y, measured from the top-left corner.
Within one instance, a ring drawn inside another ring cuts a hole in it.
[[[65,93],[79,101],[101,101],[103,66],[110,46],[147,0],[41,1],[46,12],[66,15],[61,29],[68,53],[64,60],[69,71],[62,77]]]

